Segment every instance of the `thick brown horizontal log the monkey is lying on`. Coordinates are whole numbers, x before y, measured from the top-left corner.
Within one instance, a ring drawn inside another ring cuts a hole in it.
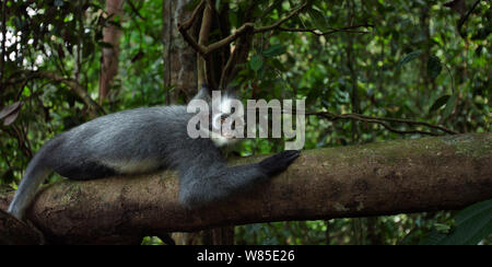
[[[258,189],[198,210],[178,204],[177,176],[164,171],[56,183],[27,214],[50,243],[121,244],[223,225],[460,209],[492,197],[491,163],[492,134],[317,149]]]

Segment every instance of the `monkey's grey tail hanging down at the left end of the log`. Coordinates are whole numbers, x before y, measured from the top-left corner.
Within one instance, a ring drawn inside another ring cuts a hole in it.
[[[17,219],[23,219],[25,210],[36,196],[37,188],[45,181],[46,176],[51,173],[51,169],[43,164],[44,150],[37,152],[27,165],[21,184],[15,191],[14,198],[9,206],[9,212]]]

